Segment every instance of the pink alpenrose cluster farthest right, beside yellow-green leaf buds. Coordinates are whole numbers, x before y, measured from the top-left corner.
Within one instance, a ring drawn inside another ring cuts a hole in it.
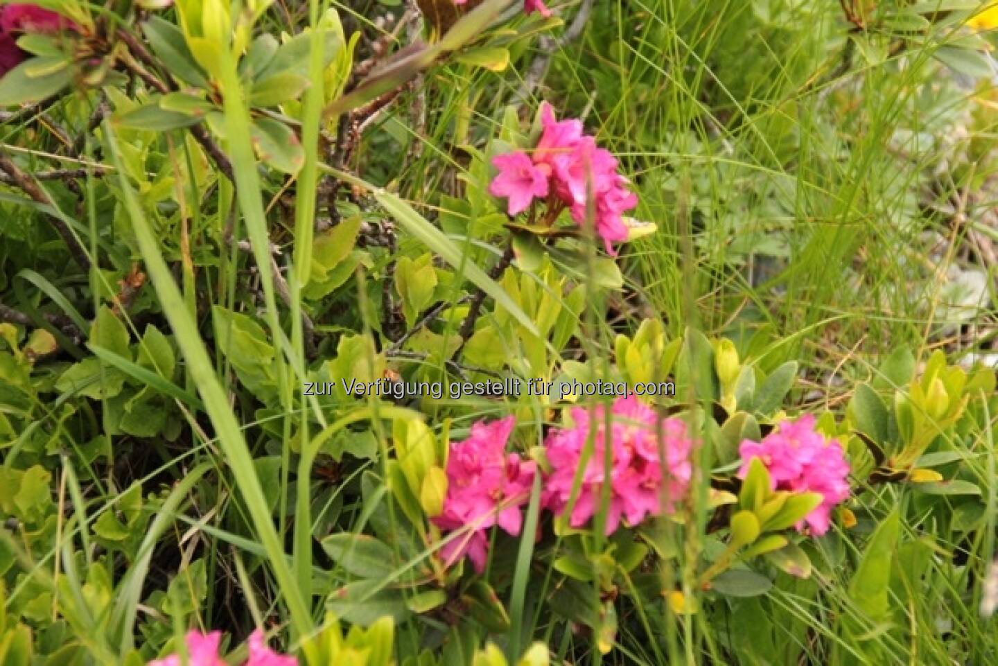
[[[796,528],[815,536],[828,531],[831,509],[849,496],[849,463],[838,440],[827,440],[814,429],[813,415],[784,420],[761,441],[743,441],[739,453],[740,478],[749,473],[751,459],[758,458],[769,472],[771,489],[820,493],[821,503]]]

